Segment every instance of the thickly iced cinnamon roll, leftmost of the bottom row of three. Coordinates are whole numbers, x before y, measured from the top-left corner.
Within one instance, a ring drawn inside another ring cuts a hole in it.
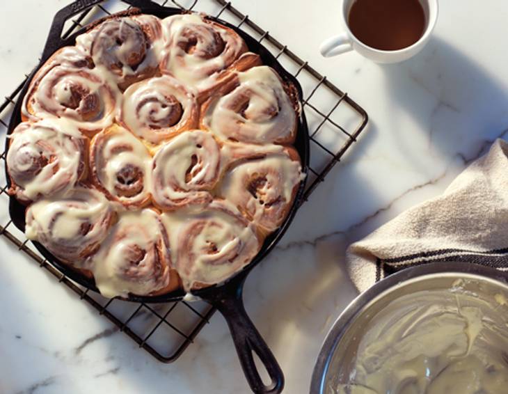
[[[79,186],[65,196],[30,205],[25,234],[61,261],[89,269],[87,258],[97,251],[115,220],[116,213],[102,193]]]

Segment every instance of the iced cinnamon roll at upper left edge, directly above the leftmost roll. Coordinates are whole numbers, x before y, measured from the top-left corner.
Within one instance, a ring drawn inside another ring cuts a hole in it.
[[[75,65],[41,69],[24,97],[24,119],[63,118],[87,135],[113,123],[118,91],[94,70]]]

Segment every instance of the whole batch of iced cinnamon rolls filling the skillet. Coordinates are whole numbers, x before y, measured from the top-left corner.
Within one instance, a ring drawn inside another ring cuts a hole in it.
[[[102,20],[35,74],[10,135],[26,236],[106,297],[189,292],[247,265],[304,178],[299,102],[203,15]]]

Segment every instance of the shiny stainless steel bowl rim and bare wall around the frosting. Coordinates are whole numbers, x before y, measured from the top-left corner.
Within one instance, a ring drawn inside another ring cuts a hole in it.
[[[465,290],[508,297],[508,273],[466,262],[431,263],[393,274],[351,301],[335,321],[319,352],[310,393],[335,394],[337,384],[347,383],[340,379],[349,376],[366,323],[390,301],[421,290],[450,289],[458,279],[466,279]]]

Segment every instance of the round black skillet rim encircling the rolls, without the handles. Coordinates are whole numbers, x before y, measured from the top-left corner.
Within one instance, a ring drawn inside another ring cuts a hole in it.
[[[141,11],[143,14],[149,14],[149,15],[155,15],[160,18],[168,17],[170,15],[182,15],[187,14],[189,11],[181,10],[180,8],[172,8],[172,7],[154,7],[153,4],[148,3],[147,7],[136,7],[138,10]],[[31,83],[31,80],[33,79],[33,76],[35,73],[42,67],[42,65],[45,64],[45,61],[47,61],[47,58],[51,56],[56,50],[60,49],[61,47],[65,47],[67,45],[74,45],[75,39],[77,36],[79,36],[82,33],[85,33],[90,29],[92,26],[95,26],[95,24],[98,24],[102,22],[105,19],[109,19],[112,16],[116,15],[125,15],[125,11],[122,11],[120,13],[114,13],[111,16],[104,17],[102,19],[97,19],[97,21],[92,22],[91,24],[88,24],[87,26],[84,26],[84,28],[79,29],[75,33],[73,33],[71,36],[66,38],[65,40],[60,40],[59,42],[49,42],[49,38],[51,37],[51,31],[48,35],[48,42],[46,43],[46,49],[48,45],[52,44],[53,49],[51,53],[48,56],[45,56],[41,58],[40,63],[38,66],[31,72],[28,79],[26,79],[26,82],[24,84],[24,87],[22,88],[21,92],[19,93],[19,96],[17,98],[16,105],[13,109],[13,114],[10,118],[8,132],[7,132],[7,138],[6,138],[6,146],[5,146],[5,152],[8,152],[9,149],[9,141],[10,139],[8,136],[12,134],[15,127],[21,123],[21,107],[22,102],[24,100],[24,96],[26,95],[26,91],[29,88],[29,85]],[[131,10],[132,13],[132,10]],[[298,79],[294,77],[293,74],[288,72],[283,65],[280,64],[280,62],[277,60],[271,52],[269,52],[269,49],[264,47],[258,40],[255,40],[251,35],[246,33],[245,31],[241,30],[239,27],[230,24],[229,22],[226,22],[223,19],[216,18],[210,15],[205,15],[207,19],[210,19],[214,22],[219,22],[220,24],[223,24],[224,26],[228,27],[229,29],[232,29],[236,33],[241,36],[242,39],[245,40],[249,51],[254,52],[255,54],[258,54],[260,58],[262,59],[263,65],[268,65],[269,67],[273,68],[278,72],[279,76],[285,81],[286,84],[292,85],[294,88],[296,88],[296,92],[298,95],[298,101],[299,101],[299,113],[297,116],[298,119],[298,125],[297,125],[297,131],[296,131],[296,141],[292,144],[292,146],[296,149],[296,151],[300,155],[301,159],[301,171],[305,174],[305,178],[300,182],[299,189],[296,192],[296,195],[293,200],[292,207],[289,209],[289,212],[283,221],[283,223],[280,225],[280,227],[271,233],[263,242],[262,247],[260,251],[255,255],[255,257],[249,262],[243,269],[238,271],[237,273],[230,276],[230,278],[226,279],[225,281],[221,283],[217,283],[214,285],[211,285],[209,287],[205,287],[200,290],[192,290],[189,292],[191,295],[200,297],[202,299],[209,299],[211,297],[216,297],[217,292],[221,292],[221,289],[225,287],[239,287],[244,282],[246,276],[250,273],[251,269],[253,269],[256,265],[258,265],[270,252],[271,250],[278,244],[280,239],[283,237],[285,232],[290,226],[290,223],[293,221],[294,216],[296,212],[299,210],[299,207],[303,203],[303,194],[305,192],[305,184],[308,178],[308,168],[309,168],[309,161],[310,161],[310,136],[308,134],[308,125],[305,118],[305,112],[303,109],[303,90],[301,88],[301,84],[299,83]],[[7,162],[5,162],[5,171],[6,171],[6,180],[7,185],[10,187],[10,177],[8,176],[8,169],[7,169]],[[13,221],[14,225],[21,230],[24,233],[25,228],[25,212],[26,212],[27,206],[20,203],[15,196],[9,196],[9,216],[10,219]],[[88,290],[92,290],[94,292],[97,292],[100,294],[100,291],[97,289],[95,285],[95,281],[93,278],[88,278],[84,274],[82,274],[77,269],[74,269],[68,264],[65,264],[64,262],[61,262],[56,258],[54,255],[52,255],[42,244],[36,241],[31,241],[32,244],[35,246],[36,249],[44,256],[44,258],[49,262],[51,265],[53,265],[58,271],[60,271],[65,276],[68,276],[72,281],[78,283],[79,285],[85,287]],[[101,294],[102,295],[102,294]],[[184,292],[183,289],[177,289],[172,292],[168,292],[165,294],[155,295],[155,296],[140,296],[136,294],[129,294],[128,297],[114,297],[115,299],[121,299],[124,301],[133,301],[133,302],[143,302],[143,303],[161,303],[161,302],[167,302],[167,301],[180,301],[184,298],[186,295],[186,292]],[[104,297],[104,296],[103,296]]]

